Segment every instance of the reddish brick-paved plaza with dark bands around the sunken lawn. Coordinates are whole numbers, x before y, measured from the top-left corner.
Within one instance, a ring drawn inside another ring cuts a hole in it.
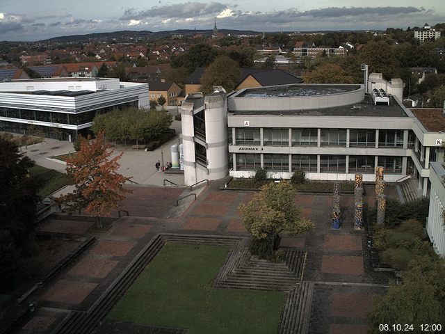
[[[254,193],[220,190],[223,183],[212,182],[177,213],[176,200],[184,189],[131,188],[124,200],[129,216],[117,218],[109,230],[95,234],[95,243],[40,289],[35,296],[38,311],[19,333],[50,333],[70,310],[88,310],[158,233],[247,237],[237,207]],[[389,189],[389,195],[395,192]],[[366,191],[365,200],[373,202],[373,191]],[[373,296],[385,292],[388,276],[370,269],[365,234],[353,230],[353,196],[341,196],[339,231],[330,228],[330,194],[299,193],[296,203],[302,216],[316,225],[314,232],[282,238],[282,246],[307,252],[302,280],[314,283],[307,333],[366,333],[366,312]],[[76,235],[88,233],[91,226],[88,220],[49,218],[38,230]]]

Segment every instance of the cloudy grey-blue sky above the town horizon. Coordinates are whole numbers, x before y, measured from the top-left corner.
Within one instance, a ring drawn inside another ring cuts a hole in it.
[[[120,30],[385,30],[445,23],[441,0],[0,0],[0,40]]]

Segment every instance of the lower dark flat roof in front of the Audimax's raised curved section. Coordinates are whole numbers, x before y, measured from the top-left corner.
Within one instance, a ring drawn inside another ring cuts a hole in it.
[[[356,117],[408,117],[401,106],[398,105],[394,97],[390,97],[389,106],[387,104],[374,105],[371,95],[365,95],[362,102],[348,104],[346,106],[334,106],[322,109],[287,110],[287,111],[242,111],[229,110],[234,115],[257,115],[257,116],[356,116]]]

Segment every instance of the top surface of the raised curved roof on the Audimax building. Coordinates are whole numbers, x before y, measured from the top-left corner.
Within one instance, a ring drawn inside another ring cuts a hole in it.
[[[286,86],[269,86],[259,88],[248,88],[236,97],[292,97],[292,96],[316,96],[353,92],[360,89],[359,85],[286,85]]]

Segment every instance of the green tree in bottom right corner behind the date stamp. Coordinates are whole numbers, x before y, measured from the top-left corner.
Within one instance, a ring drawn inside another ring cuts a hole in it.
[[[402,271],[403,282],[391,283],[369,312],[369,332],[382,333],[379,324],[445,324],[445,262],[423,256]]]

